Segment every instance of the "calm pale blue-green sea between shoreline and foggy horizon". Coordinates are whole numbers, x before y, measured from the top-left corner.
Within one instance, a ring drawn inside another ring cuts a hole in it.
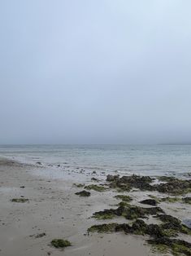
[[[0,157],[63,170],[178,176],[191,171],[191,145],[6,145]]]

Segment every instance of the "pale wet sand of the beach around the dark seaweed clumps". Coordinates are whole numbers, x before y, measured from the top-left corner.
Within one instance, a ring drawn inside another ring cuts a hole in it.
[[[146,243],[149,236],[125,235],[123,232],[88,233],[87,229],[100,223],[127,223],[123,217],[112,220],[97,220],[93,213],[112,208],[119,201],[114,198],[119,194],[113,189],[105,192],[91,190],[91,196],[81,197],[75,193],[79,175],[67,173],[64,179],[53,179],[42,167],[21,164],[16,161],[0,161],[0,254],[2,256],[32,255],[67,255],[67,256],[153,256],[163,255],[154,252]],[[82,175],[82,174],[81,174]],[[84,183],[98,184],[106,181],[106,176],[84,174],[80,176]],[[76,180],[75,180],[76,177]],[[99,182],[91,180],[98,178]],[[81,182],[80,182],[81,183]],[[127,192],[132,196],[132,204],[148,198],[148,194],[158,192]],[[28,201],[14,202],[14,198]],[[142,205],[141,205],[142,206]],[[145,207],[148,207],[148,205]],[[165,213],[173,214],[183,220],[191,216],[189,204],[167,202],[160,204]],[[154,221],[148,218],[147,223]],[[190,242],[190,236],[180,235]],[[55,238],[67,239],[72,246],[57,249],[50,245]],[[165,254],[171,255],[171,253]]]

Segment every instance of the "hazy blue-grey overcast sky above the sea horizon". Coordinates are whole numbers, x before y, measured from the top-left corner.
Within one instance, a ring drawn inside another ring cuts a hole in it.
[[[190,10],[0,1],[0,143],[190,143]]]

